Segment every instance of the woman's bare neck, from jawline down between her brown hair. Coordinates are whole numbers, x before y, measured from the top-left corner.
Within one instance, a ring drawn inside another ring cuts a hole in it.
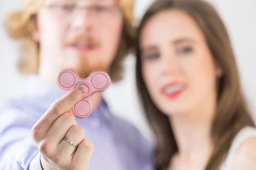
[[[187,114],[170,117],[177,143],[177,155],[183,163],[207,161],[212,153],[211,127],[215,103],[208,103],[205,107],[200,105]]]

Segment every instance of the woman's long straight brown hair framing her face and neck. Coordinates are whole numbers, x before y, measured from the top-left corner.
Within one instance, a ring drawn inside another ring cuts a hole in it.
[[[166,170],[178,149],[168,117],[154,105],[143,81],[140,34],[151,17],[171,9],[183,11],[195,20],[205,36],[215,62],[223,71],[216,89],[218,101],[211,128],[214,150],[205,167],[205,170],[218,170],[239,130],[245,126],[255,127],[255,125],[246,106],[227,30],[215,8],[202,0],[157,0],[145,12],[137,30],[137,89],[149,126],[156,137],[154,151],[156,169]]]

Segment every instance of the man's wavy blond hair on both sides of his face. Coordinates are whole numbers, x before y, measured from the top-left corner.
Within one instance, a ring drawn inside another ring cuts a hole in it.
[[[3,23],[9,37],[22,40],[21,56],[17,62],[17,68],[22,74],[38,72],[40,44],[33,40],[32,32],[36,29],[36,14],[43,3],[44,0],[23,0],[23,7],[8,14]],[[109,70],[113,82],[122,79],[123,60],[134,45],[134,0],[119,0],[119,5],[123,10],[123,30],[119,49]]]

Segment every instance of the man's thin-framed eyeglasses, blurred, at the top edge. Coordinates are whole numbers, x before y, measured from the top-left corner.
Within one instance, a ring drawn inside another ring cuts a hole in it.
[[[79,10],[87,10],[90,19],[96,24],[106,24],[122,17],[122,8],[119,6],[92,5],[81,6],[73,2],[55,1],[48,4],[46,8],[52,10],[52,13],[61,20],[71,21],[79,14]]]

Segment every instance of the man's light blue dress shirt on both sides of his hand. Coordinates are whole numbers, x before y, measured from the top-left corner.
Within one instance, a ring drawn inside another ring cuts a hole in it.
[[[31,129],[65,93],[32,74],[20,96],[1,103],[0,170],[41,170]],[[94,145],[89,170],[153,170],[151,144],[133,125],[111,114],[105,101],[76,121]]]

